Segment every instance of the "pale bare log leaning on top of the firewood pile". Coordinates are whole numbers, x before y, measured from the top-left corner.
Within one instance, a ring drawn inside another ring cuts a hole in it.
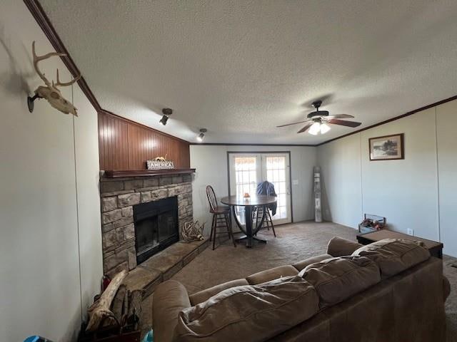
[[[100,299],[89,307],[87,310],[87,313],[89,314],[89,323],[87,324],[86,331],[96,331],[96,329],[99,328],[100,323],[106,318],[114,319],[114,314],[110,310],[111,302],[113,301],[114,296],[116,296],[116,292],[126,275],[126,270],[116,274],[108,287],[106,287],[104,293],[101,294]]]

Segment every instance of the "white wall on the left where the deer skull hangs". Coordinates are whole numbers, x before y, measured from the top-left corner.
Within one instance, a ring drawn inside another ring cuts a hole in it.
[[[62,93],[74,97],[79,118],[46,100],[29,113],[27,92],[41,84],[32,41],[39,54],[54,51],[22,1],[2,1],[0,341],[35,333],[74,341],[102,275],[96,115],[78,86]],[[70,78],[59,58],[42,68]]]

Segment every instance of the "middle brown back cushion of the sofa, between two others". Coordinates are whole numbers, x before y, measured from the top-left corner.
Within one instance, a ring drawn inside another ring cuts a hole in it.
[[[321,308],[337,304],[381,281],[378,266],[366,257],[326,259],[306,266],[298,276],[316,288]]]

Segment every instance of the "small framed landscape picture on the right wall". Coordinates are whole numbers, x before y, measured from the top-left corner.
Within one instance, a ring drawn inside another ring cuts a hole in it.
[[[370,160],[405,159],[403,133],[369,138]]]

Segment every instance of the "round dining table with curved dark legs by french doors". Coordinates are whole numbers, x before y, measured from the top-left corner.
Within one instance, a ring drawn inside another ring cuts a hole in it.
[[[265,207],[268,204],[275,203],[276,197],[267,195],[252,195],[251,197],[246,198],[233,195],[223,197],[221,199],[221,202],[231,207],[236,225],[238,225],[239,229],[241,229],[241,232],[243,232],[244,234],[242,237],[236,239],[236,241],[246,240],[247,248],[252,248],[253,240],[266,244],[266,239],[256,237],[256,234],[258,232],[258,229],[262,227],[263,221],[265,220]],[[239,222],[238,217],[236,217],[235,207],[244,207],[244,222],[246,222],[246,228],[243,227],[243,225]],[[252,224],[252,212],[254,207],[263,207],[264,209],[260,222],[256,222],[256,227],[253,227]]]

